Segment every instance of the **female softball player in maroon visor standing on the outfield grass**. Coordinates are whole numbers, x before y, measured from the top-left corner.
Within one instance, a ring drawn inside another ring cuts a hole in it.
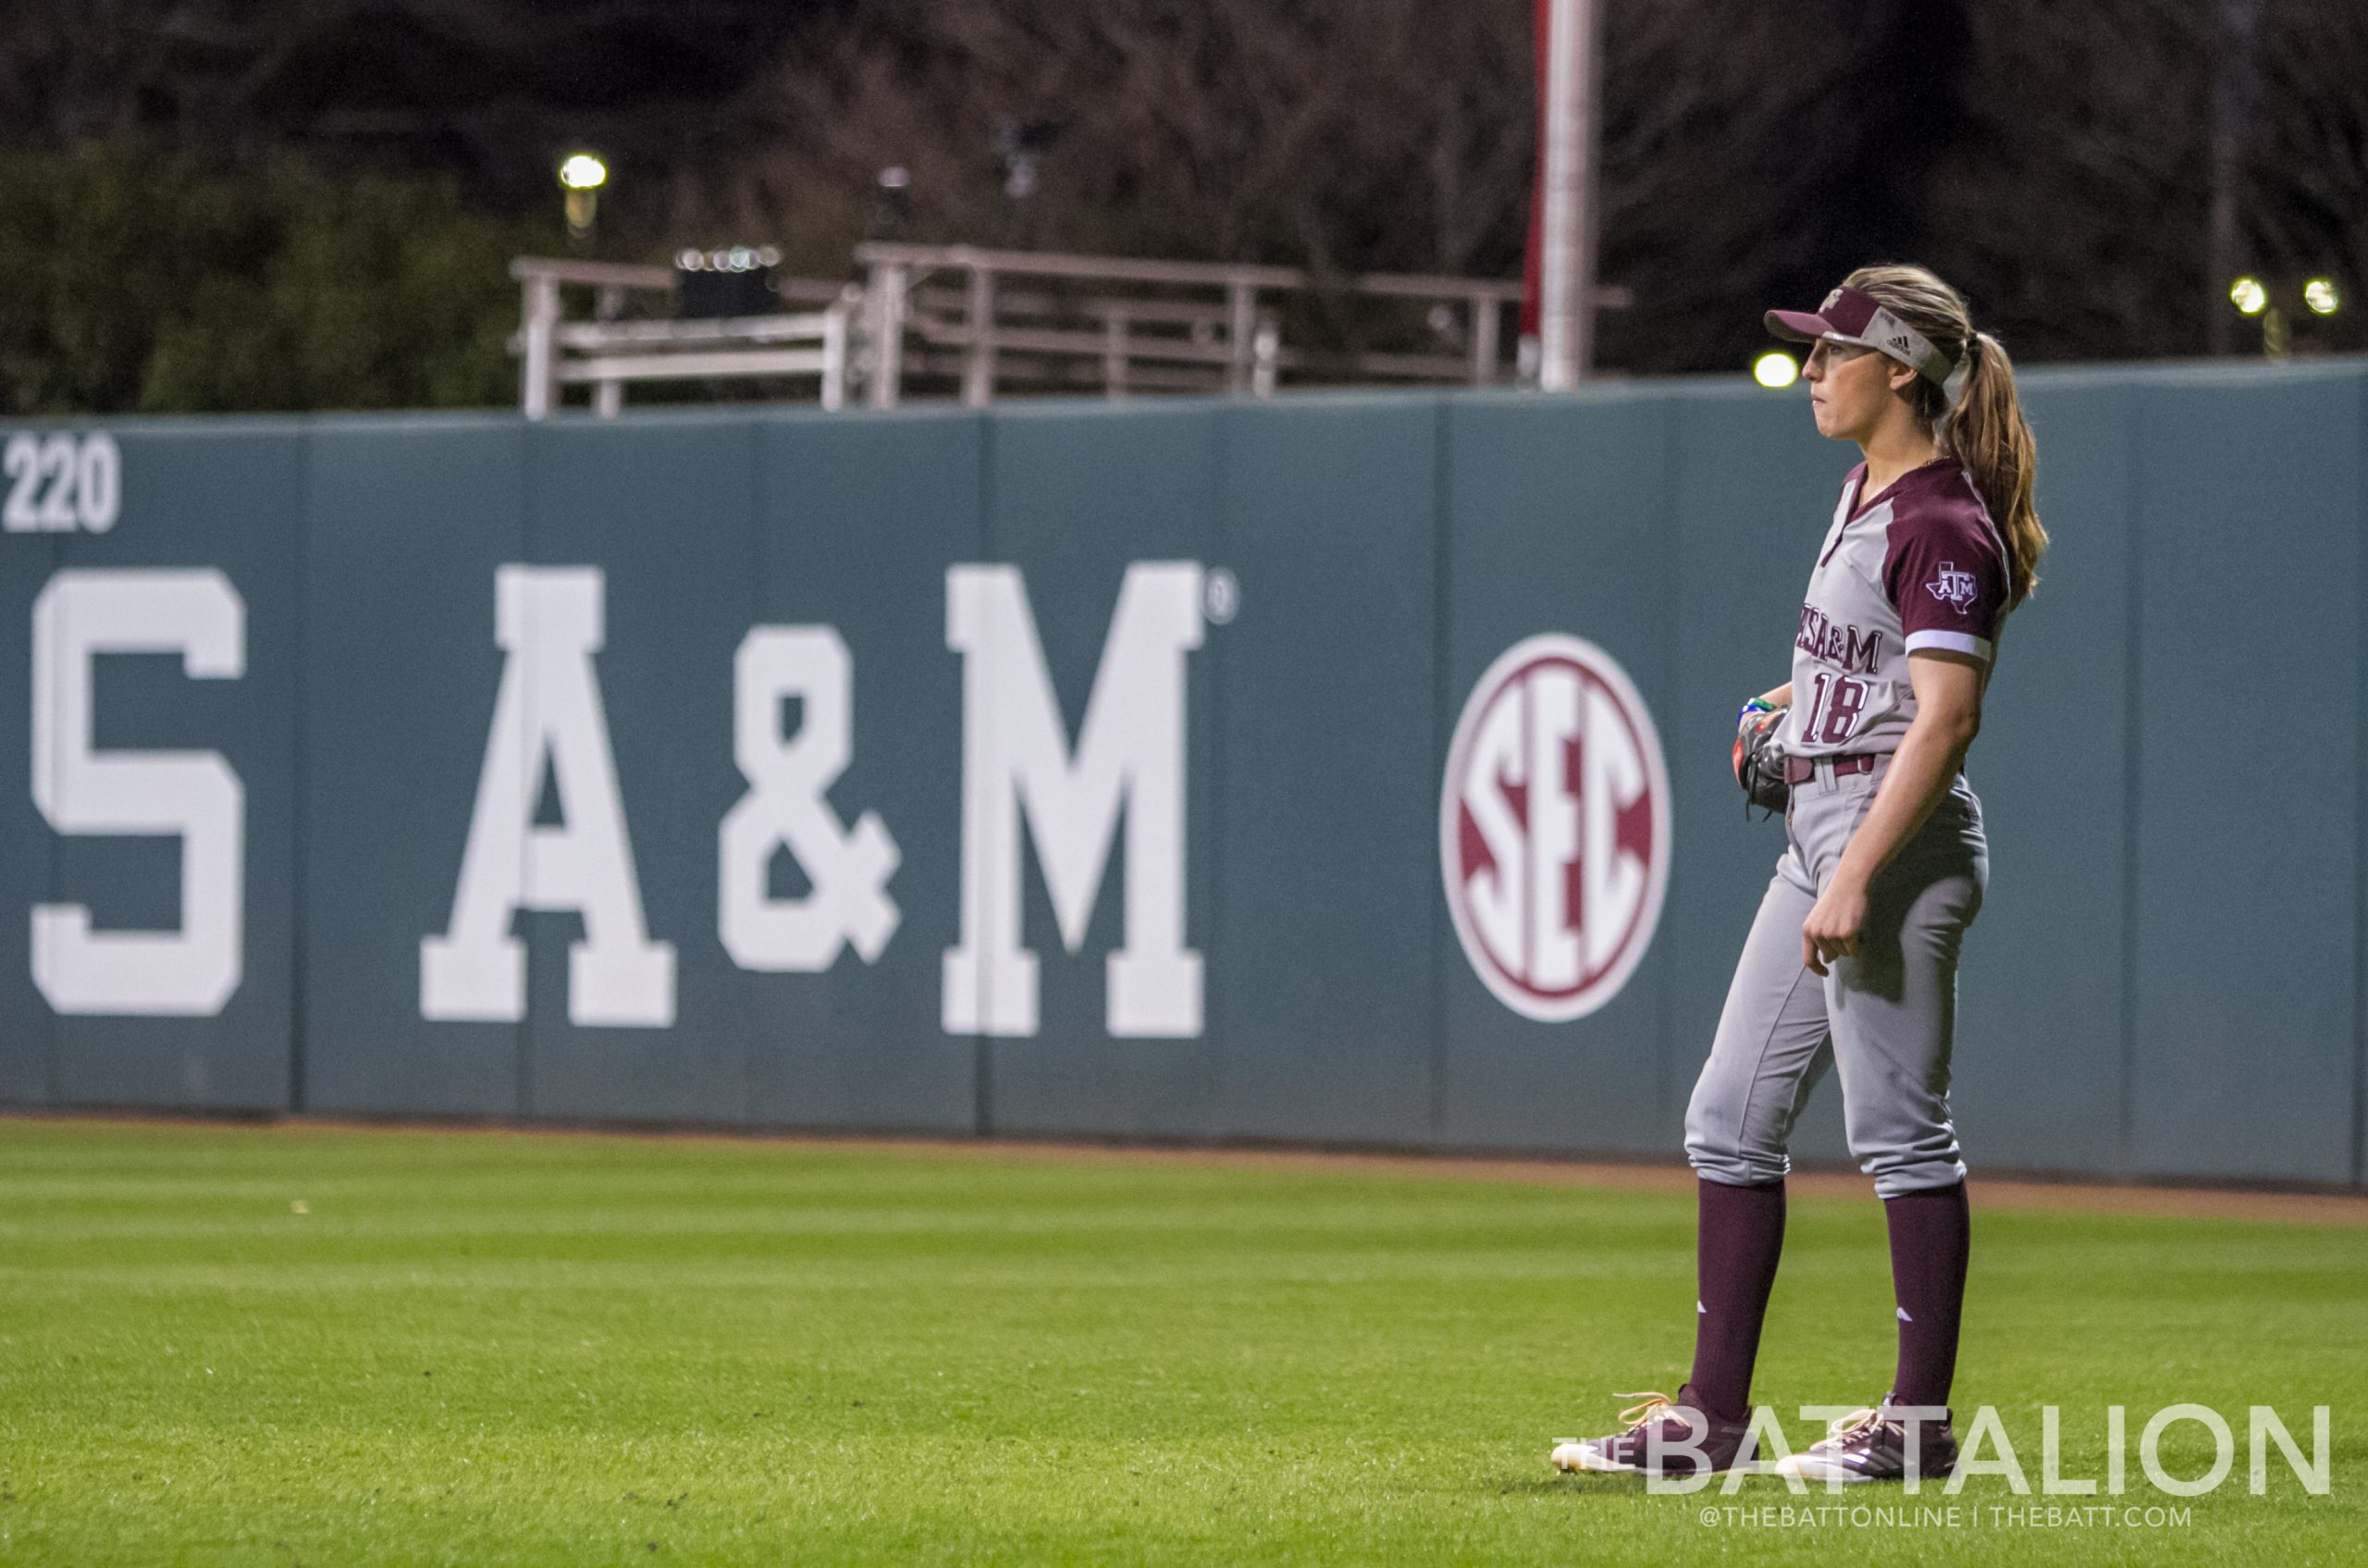
[[[1783,1248],[1785,1142],[1840,1066],[1849,1151],[1892,1239],[1899,1367],[1871,1409],[1781,1469],[1812,1480],[1946,1476],[1965,1296],[1965,1165],[1949,1125],[1956,955],[1982,907],[1982,805],[1958,767],[1982,725],[1999,628],[2036,580],[2032,429],[2015,372],[1923,268],[1861,268],[1769,332],[1816,343],[1816,429],[1866,455],[1842,481],[1793,640],[1785,853],[1743,945],[1686,1111],[1700,1177],[1693,1376],[1561,1469],[1695,1476],[1748,1464],[1759,1319]],[[1951,398],[1951,381],[1961,391]]]

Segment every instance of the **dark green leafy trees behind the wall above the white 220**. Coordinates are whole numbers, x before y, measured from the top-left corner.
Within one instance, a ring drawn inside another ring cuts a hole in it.
[[[0,154],[0,410],[507,403],[507,265],[556,230],[471,211],[448,180],[277,154]]]

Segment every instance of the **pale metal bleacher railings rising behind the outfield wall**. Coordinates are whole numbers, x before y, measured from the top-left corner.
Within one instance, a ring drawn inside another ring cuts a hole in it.
[[[1369,272],[1319,279],[1298,268],[990,251],[980,246],[860,244],[864,284],[774,279],[805,313],[710,322],[625,320],[637,296],[668,296],[670,268],[519,258],[523,322],[521,407],[547,417],[573,384],[616,415],[628,381],[817,377],[824,407],[860,388],[895,407],[912,381],[950,386],[983,407],[1002,391],[1236,393],[1267,398],[1300,384],[1471,384],[1516,379],[1504,313],[1518,282]],[[564,287],[592,291],[592,320],[564,315]],[[1598,289],[1598,308],[1627,306]],[[1321,353],[1283,341],[1291,310],[1347,308],[1399,320],[1390,351]],[[1407,343],[1414,346],[1407,346]]]

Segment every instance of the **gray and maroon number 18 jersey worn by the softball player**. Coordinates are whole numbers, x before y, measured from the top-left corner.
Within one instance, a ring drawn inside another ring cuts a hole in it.
[[[1902,474],[1861,502],[1866,464],[1842,481],[1793,637],[1790,756],[1897,751],[1916,718],[1909,654],[1999,654],[2006,545],[1954,457]],[[1864,505],[1864,509],[1861,509]]]

